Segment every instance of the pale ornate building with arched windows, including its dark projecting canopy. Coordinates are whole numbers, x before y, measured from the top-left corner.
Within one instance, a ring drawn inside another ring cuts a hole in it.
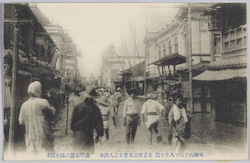
[[[191,10],[191,50],[192,64],[205,66],[211,60],[211,31],[208,30],[208,16],[205,4],[192,4]],[[172,92],[181,92],[188,97],[188,8],[180,8],[171,24],[159,32],[148,32],[146,46],[147,92],[155,92],[162,103]],[[200,66],[198,66],[201,68]],[[203,70],[204,71],[204,70]],[[201,71],[201,72],[203,72]],[[199,73],[201,73],[199,71]],[[194,73],[197,75],[196,73]],[[160,80],[159,80],[160,79]],[[194,89],[200,89],[197,84]],[[200,95],[197,95],[197,101]],[[165,100],[165,101],[164,101]],[[200,111],[199,104],[195,106]]]

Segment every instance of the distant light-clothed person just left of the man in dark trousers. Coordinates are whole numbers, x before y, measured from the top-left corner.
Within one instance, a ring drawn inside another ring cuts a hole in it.
[[[122,101],[122,94],[120,93],[121,91],[121,88],[118,87],[116,89],[116,92],[114,93],[113,97],[111,98],[112,99],[112,105],[113,105],[113,116],[112,116],[112,119],[114,121],[114,125],[116,126],[116,123],[118,121],[118,109],[119,109],[119,106],[120,106],[120,102]]]

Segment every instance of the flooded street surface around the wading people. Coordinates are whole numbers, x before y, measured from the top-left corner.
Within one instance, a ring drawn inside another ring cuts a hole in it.
[[[139,99],[141,105],[144,99]],[[119,107],[119,122],[115,127],[110,120],[110,140],[103,143],[95,144],[95,155],[90,158],[95,159],[111,159],[109,157],[101,157],[105,153],[151,153],[154,159],[181,159],[182,157],[167,157],[167,153],[174,153],[174,147],[168,143],[168,124],[164,117],[161,118],[159,123],[159,131],[162,134],[163,141],[160,144],[156,143],[156,138],[153,139],[153,145],[149,143],[149,131],[144,123],[137,128],[135,144],[127,146],[125,142],[125,127],[122,125],[122,110],[123,102]],[[141,109],[141,108],[140,108]],[[56,153],[71,153],[72,152],[72,137],[73,133],[70,130],[65,134],[66,118],[65,111],[61,112],[58,116],[57,123],[54,126],[55,135],[55,152]],[[215,123],[211,120],[209,114],[194,114],[191,121],[192,136],[186,141],[186,148],[183,151],[185,159],[192,159],[194,153],[200,154],[196,159],[204,158],[234,158],[237,159],[243,155],[244,149],[247,144],[246,128],[229,125],[225,123]],[[190,156],[189,156],[190,155]],[[119,157],[118,157],[119,159]],[[122,158],[120,158],[122,159]],[[139,158],[138,158],[139,159]]]

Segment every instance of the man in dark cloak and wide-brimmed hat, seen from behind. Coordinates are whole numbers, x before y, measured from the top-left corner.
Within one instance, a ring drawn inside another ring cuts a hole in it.
[[[88,86],[83,95],[85,100],[74,107],[71,119],[71,129],[74,133],[73,148],[75,152],[93,154],[94,129],[97,136],[103,136],[103,121],[100,109],[95,105],[94,99],[100,98],[100,94],[92,86]]]

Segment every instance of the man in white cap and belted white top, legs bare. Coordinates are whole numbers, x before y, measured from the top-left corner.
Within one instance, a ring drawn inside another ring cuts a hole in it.
[[[142,106],[141,116],[143,122],[145,122],[144,115],[147,114],[146,127],[150,131],[150,144],[152,145],[153,130],[156,134],[157,143],[161,141],[161,135],[158,132],[158,122],[162,111],[165,109],[158,101],[153,100],[153,94],[149,93],[146,98],[148,99]]]

